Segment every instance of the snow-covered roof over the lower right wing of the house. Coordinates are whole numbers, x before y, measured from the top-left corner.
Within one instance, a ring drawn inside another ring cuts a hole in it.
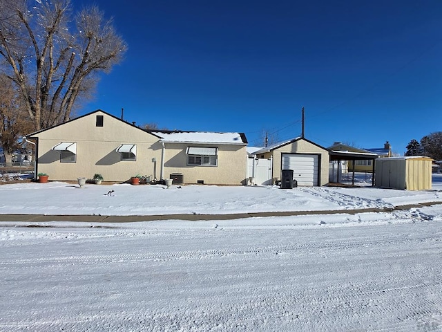
[[[208,131],[150,131],[162,142],[245,145],[244,133],[214,133]]]

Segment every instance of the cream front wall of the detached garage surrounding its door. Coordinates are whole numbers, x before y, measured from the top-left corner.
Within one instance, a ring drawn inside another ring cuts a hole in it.
[[[273,150],[273,181],[280,180],[282,167],[282,154],[316,154],[319,156],[319,185],[327,185],[329,182],[329,153],[318,145],[311,144],[306,140],[296,140]]]

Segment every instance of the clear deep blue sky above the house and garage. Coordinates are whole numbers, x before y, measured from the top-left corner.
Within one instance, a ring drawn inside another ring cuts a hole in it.
[[[74,0],[76,7],[90,3]],[[95,0],[128,44],[78,115],[405,152],[441,131],[442,1]]]

